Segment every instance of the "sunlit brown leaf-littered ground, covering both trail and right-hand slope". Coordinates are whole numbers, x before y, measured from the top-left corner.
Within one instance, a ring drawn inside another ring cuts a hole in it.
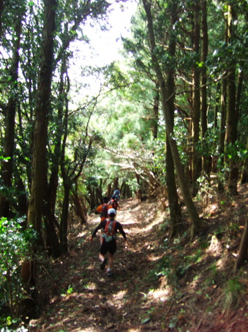
[[[99,268],[99,238],[88,241],[99,217],[75,225],[70,251],[49,277],[57,295],[30,321],[29,331],[248,331],[247,265],[233,273],[247,218],[247,186],[239,193],[200,207],[205,222],[192,242],[186,211],[180,236],[169,241],[168,215],[155,202],[122,200],[117,220],[128,247],[119,236],[113,277]]]

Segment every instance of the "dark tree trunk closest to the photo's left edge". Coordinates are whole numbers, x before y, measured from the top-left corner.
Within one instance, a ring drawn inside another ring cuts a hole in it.
[[[17,91],[17,79],[18,79],[18,67],[19,67],[19,49],[21,42],[21,19],[22,15],[17,17],[15,24],[15,36],[13,41],[12,63],[10,67],[10,98],[6,108],[5,119],[5,137],[3,157],[8,158],[7,161],[1,165],[1,179],[5,186],[3,195],[0,196],[0,217],[10,217],[10,201],[8,199],[8,190],[12,186],[12,173],[13,173],[13,157],[15,150],[15,114],[17,110],[18,91]]]

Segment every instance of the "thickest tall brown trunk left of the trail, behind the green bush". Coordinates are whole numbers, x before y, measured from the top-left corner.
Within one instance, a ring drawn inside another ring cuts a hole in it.
[[[28,223],[41,236],[41,217],[44,213],[44,196],[47,181],[46,145],[48,139],[48,113],[50,110],[51,80],[53,74],[53,46],[55,37],[55,0],[44,1],[44,42],[37,90],[34,147],[32,156],[32,184]]]

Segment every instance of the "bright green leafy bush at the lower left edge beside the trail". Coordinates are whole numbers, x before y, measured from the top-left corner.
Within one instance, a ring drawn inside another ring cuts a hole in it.
[[[0,288],[1,301],[5,300],[12,315],[17,314],[21,299],[20,266],[32,256],[32,244],[36,240],[35,231],[23,229],[23,220],[0,220]]]

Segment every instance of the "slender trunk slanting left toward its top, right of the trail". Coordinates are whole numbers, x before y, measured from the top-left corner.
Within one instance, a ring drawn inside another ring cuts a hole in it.
[[[171,110],[169,109],[169,103],[171,96],[169,96],[168,90],[166,89],[166,85],[164,82],[164,78],[162,76],[162,70],[160,69],[160,64],[155,55],[155,37],[153,32],[153,18],[151,16],[151,3],[147,2],[147,0],[143,0],[144,10],[146,11],[148,31],[149,31],[149,41],[151,47],[151,58],[153,61],[153,65],[155,68],[155,72],[158,78],[158,82],[160,83],[160,94],[162,98],[162,109],[164,111],[164,118],[166,121],[166,134],[169,138],[169,144],[171,146],[171,153],[173,156],[173,161],[175,164],[176,171],[178,173],[178,180],[180,184],[180,189],[182,191],[182,195],[184,198],[184,202],[187,206],[187,210],[189,212],[189,216],[191,218],[192,227],[191,227],[191,238],[195,235],[198,227],[200,226],[200,218],[198,216],[198,212],[195,209],[195,205],[193,204],[193,200],[191,198],[191,194],[189,192],[189,187],[184,175],[184,170],[182,167],[182,163],[180,160],[180,155],[178,152],[178,147],[176,145],[175,138],[173,137],[173,121],[171,119]]]

